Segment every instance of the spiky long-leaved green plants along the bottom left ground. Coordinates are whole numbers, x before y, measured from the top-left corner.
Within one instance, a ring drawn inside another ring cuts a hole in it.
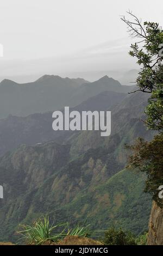
[[[89,225],[86,227],[80,227],[76,225],[74,228],[70,228],[68,223],[59,223],[57,225],[49,224],[49,217],[43,217],[37,219],[33,225],[21,225],[23,230],[18,231],[22,235],[21,240],[28,243],[29,245],[42,245],[46,241],[58,241],[63,239],[65,236],[89,236],[91,231]],[[61,229],[62,227],[62,229]],[[60,230],[61,229],[61,230]]]

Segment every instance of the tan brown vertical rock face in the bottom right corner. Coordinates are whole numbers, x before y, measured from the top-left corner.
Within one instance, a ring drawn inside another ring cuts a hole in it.
[[[163,209],[155,202],[149,219],[148,245],[163,245]]]

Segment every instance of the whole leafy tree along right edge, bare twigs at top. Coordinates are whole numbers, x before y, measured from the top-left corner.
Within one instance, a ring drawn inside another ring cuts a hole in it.
[[[148,129],[159,132],[151,142],[138,138],[135,145],[127,147],[133,151],[129,157],[129,167],[146,172],[145,191],[152,193],[153,199],[162,208],[163,200],[159,198],[158,188],[163,185],[163,31],[158,23],[144,22],[142,25],[141,20],[130,11],[128,14],[133,21],[127,20],[125,16],[121,19],[127,24],[130,36],[139,38],[138,42],[131,44],[129,52],[141,66],[135,92],[149,93],[145,109],[147,119],[143,122]]]

